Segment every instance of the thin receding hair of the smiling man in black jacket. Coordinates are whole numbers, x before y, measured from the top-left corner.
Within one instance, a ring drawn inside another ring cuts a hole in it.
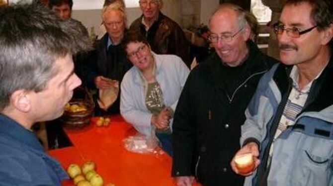
[[[249,25],[248,22],[247,22],[247,19],[246,19],[246,11],[241,6],[236,5],[236,4],[232,4],[232,3],[222,3],[222,4],[220,4],[220,6],[213,12],[210,19],[216,13],[220,12],[221,9],[224,9],[224,8],[232,9],[237,13],[237,25],[238,25],[239,29],[244,28],[245,26]],[[209,19],[209,22],[210,22],[210,19]]]

